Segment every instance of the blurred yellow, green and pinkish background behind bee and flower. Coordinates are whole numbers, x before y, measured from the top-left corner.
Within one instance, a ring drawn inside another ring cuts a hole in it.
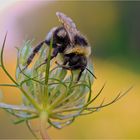
[[[5,64],[14,76],[16,49],[24,40],[42,41],[57,26],[56,11],[70,16],[87,36],[93,54],[95,95],[106,82],[99,101],[110,101],[119,91],[134,88],[117,103],[94,114],[79,117],[62,129],[49,129],[53,139],[140,138],[140,2],[0,0],[0,45],[8,31]],[[10,82],[0,70],[0,83]],[[21,94],[3,88],[0,100],[18,104]],[[98,101],[97,101],[98,103]],[[33,138],[25,124],[14,125],[13,117],[0,110],[0,138]]]

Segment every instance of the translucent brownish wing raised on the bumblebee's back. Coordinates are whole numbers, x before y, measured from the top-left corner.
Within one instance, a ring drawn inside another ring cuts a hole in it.
[[[58,17],[59,21],[63,24],[71,43],[74,43],[74,37],[79,33],[76,28],[75,23],[70,17],[67,17],[65,14],[61,12],[56,12],[56,16]]]

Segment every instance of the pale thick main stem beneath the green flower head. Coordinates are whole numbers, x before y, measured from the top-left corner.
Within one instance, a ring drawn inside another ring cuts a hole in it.
[[[42,140],[50,140],[50,137],[46,131],[46,124],[48,122],[48,114],[46,111],[42,111],[40,114],[40,135]]]

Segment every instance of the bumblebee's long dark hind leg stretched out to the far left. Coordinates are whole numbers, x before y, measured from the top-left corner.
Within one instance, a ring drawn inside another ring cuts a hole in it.
[[[28,59],[27,59],[27,64],[26,64],[26,66],[22,69],[22,71],[24,71],[24,70],[30,65],[30,63],[32,62],[32,60],[33,60],[33,58],[35,57],[36,53],[38,53],[38,51],[41,49],[41,47],[43,46],[43,44],[44,44],[44,41],[41,42],[39,45],[37,45],[37,46],[34,48],[32,54],[31,54],[31,55],[28,57]]]

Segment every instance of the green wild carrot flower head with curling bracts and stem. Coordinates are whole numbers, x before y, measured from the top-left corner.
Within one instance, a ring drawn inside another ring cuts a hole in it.
[[[19,88],[22,93],[22,104],[9,105],[1,102],[0,108],[16,116],[18,118],[15,121],[16,124],[26,122],[32,132],[29,122],[32,119],[40,119],[39,131],[43,139],[49,139],[46,132],[49,126],[63,128],[71,124],[76,117],[111,105],[128,92],[127,90],[122,94],[119,93],[109,103],[102,101],[99,106],[94,106],[93,103],[101,94],[104,86],[95,97],[92,97],[93,76],[85,70],[80,81],[76,82],[79,71],[65,70],[54,63],[56,60],[50,61],[51,45],[50,47],[43,46],[32,66],[23,70],[27,58],[32,53],[32,41],[25,41],[23,46],[18,48],[16,79],[14,79],[6,70],[3,61],[5,42],[6,36],[1,49],[0,68],[13,84],[0,84],[0,86]],[[37,68],[46,57],[48,57],[47,64]],[[88,68],[93,72],[91,63],[88,64]]]

